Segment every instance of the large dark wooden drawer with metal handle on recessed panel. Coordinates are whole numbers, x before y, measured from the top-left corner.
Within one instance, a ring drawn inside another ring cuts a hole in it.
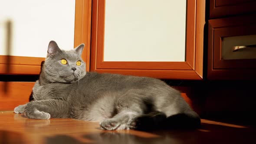
[[[209,20],[208,79],[255,79],[255,15]],[[234,46],[247,46],[236,49]]]

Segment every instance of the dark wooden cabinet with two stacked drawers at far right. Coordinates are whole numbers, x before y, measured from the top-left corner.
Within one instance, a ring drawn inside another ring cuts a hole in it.
[[[249,13],[255,7],[255,0],[210,0],[210,17],[225,18],[208,21],[208,79],[256,79],[256,14]]]

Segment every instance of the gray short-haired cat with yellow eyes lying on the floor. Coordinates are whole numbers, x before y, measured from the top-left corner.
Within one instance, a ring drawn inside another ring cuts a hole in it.
[[[50,41],[27,118],[98,121],[105,130],[197,128],[200,118],[180,92],[159,79],[85,72],[84,44],[64,51]]]

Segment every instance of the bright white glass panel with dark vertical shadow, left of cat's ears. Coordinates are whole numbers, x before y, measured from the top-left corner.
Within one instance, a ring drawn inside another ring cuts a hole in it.
[[[12,56],[46,57],[50,40],[74,46],[75,0],[1,0],[0,55],[6,55],[7,20],[12,22]]]

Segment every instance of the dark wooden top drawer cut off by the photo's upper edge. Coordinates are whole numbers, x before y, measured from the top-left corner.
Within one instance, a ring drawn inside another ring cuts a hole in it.
[[[255,11],[255,0],[210,0],[210,19]]]

